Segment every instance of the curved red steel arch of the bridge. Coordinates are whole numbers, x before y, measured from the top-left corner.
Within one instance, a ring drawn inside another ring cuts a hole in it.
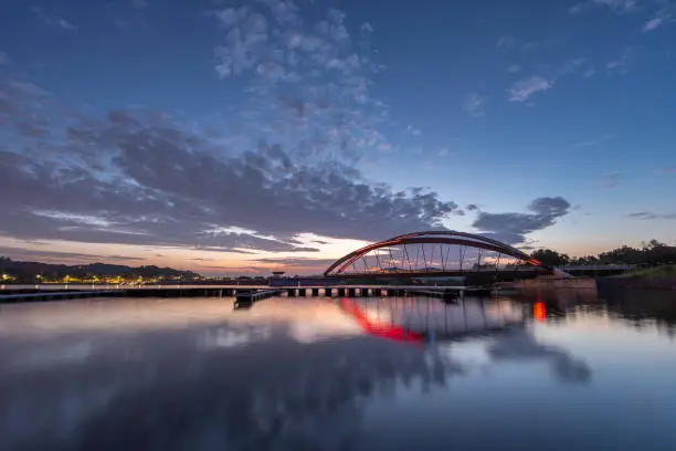
[[[455,230],[432,230],[424,232],[412,232],[397,237],[392,237],[388,240],[380,241],[378,243],[366,245],[358,249],[349,254],[338,259],[334,262],[325,272],[324,275],[339,275],[346,268],[350,266],[355,261],[368,254],[371,251],[382,248],[389,248],[400,244],[424,244],[424,243],[442,243],[442,244],[458,244],[466,245],[476,249],[483,249],[488,251],[495,251],[505,255],[513,256],[515,259],[524,260],[529,265],[548,269],[542,263],[530,255],[519,251],[518,249],[503,243],[497,240],[493,240],[487,237],[477,235],[474,233],[458,232]],[[332,271],[337,271],[331,274]]]

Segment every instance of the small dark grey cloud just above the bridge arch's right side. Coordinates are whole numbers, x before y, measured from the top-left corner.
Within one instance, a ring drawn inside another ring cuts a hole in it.
[[[482,233],[509,244],[520,244],[526,235],[547,229],[570,212],[571,204],[561,197],[537,198],[528,206],[529,213],[488,213],[480,211],[472,224]],[[467,206],[467,210],[473,210]],[[476,208],[474,209],[476,210]]]

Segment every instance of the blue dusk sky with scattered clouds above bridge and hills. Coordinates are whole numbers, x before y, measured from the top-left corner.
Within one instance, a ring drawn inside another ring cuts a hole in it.
[[[320,272],[676,237],[676,1],[4,0],[0,255]]]

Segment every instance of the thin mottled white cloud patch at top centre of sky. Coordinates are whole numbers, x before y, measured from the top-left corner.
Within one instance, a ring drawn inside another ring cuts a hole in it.
[[[394,149],[381,132],[392,124],[389,107],[371,95],[384,66],[363,33],[361,42],[350,35],[345,13],[319,6],[306,14],[292,0],[265,0],[211,15],[222,32],[216,75],[237,78],[250,97],[237,124],[242,140],[255,145],[264,134],[303,148],[306,158],[357,160]]]

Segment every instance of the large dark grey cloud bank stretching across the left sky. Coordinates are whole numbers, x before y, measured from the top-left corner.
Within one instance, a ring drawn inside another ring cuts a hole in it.
[[[379,240],[441,227],[456,208],[421,188],[372,183],[339,160],[315,164],[302,149],[261,141],[226,151],[221,136],[157,112],[78,114],[35,136],[23,123],[42,126],[46,93],[27,81],[0,90],[17,145],[0,151],[1,235],[315,252],[294,237]]]

